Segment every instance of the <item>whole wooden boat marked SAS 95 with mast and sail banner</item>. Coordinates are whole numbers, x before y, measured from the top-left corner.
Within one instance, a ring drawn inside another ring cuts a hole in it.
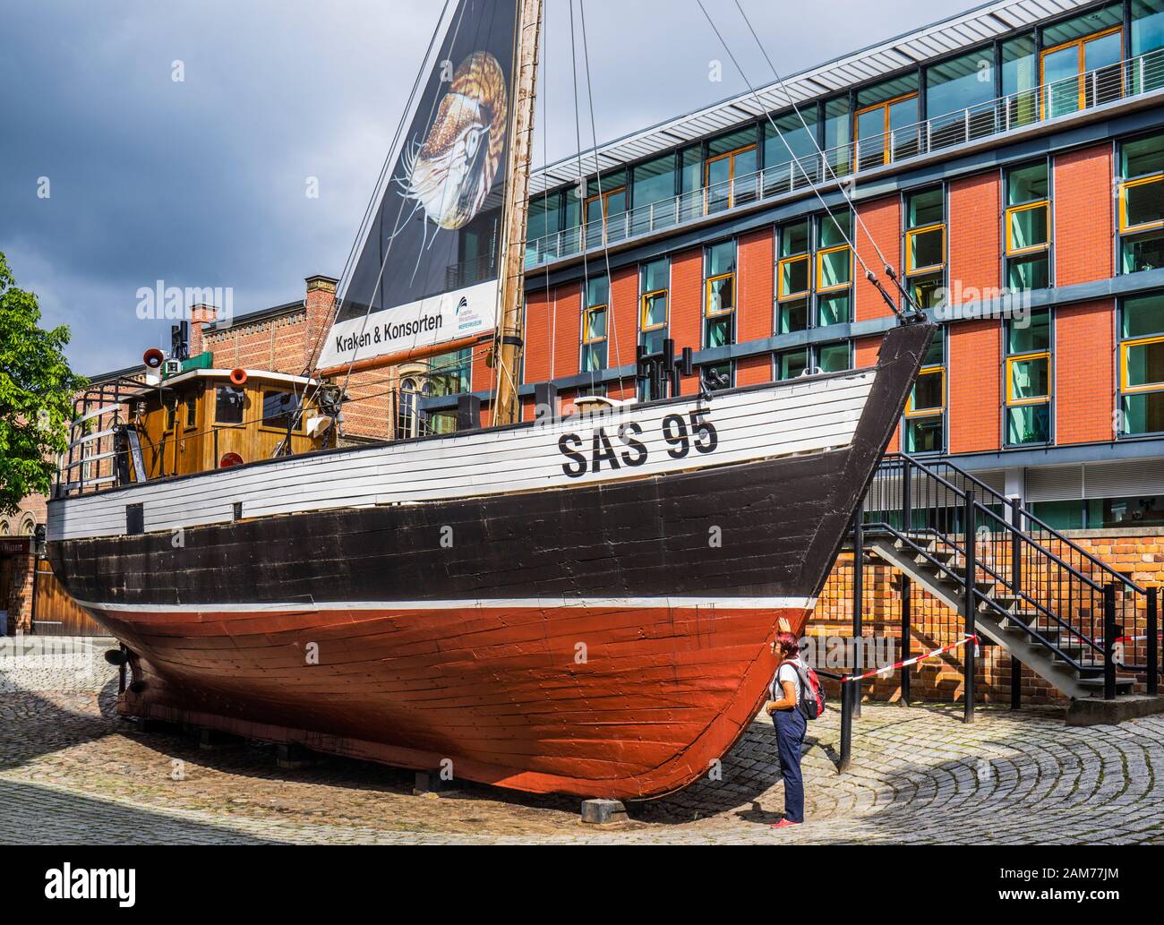
[[[162,376],[99,408],[130,410],[111,428],[112,482],[63,464],[48,555],[121,642],[121,714],[611,799],[691,783],[755,717],[773,635],[802,632],[932,325],[893,328],[865,369],[569,414],[545,393],[534,420],[499,375],[489,426],[466,397],[456,433],[338,446],[362,363],[483,326],[499,370],[517,369],[540,6],[455,5],[431,56],[461,64],[418,81],[327,369],[284,383],[270,426],[269,373],[154,356]],[[441,144],[461,145],[460,166],[436,163]],[[434,185],[441,171],[455,190]],[[497,259],[467,257],[483,228]],[[436,272],[450,255],[470,269]],[[676,386],[690,362],[668,372]],[[187,400],[197,415],[232,387],[268,442],[151,468],[154,417]]]

